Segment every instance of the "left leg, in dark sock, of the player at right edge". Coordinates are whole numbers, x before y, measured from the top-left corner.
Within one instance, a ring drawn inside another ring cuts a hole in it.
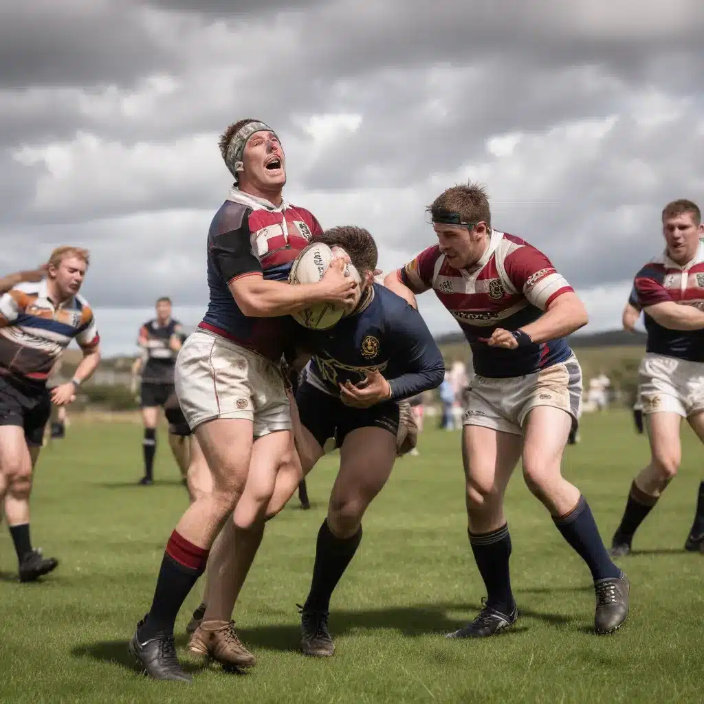
[[[631,483],[621,522],[611,541],[611,555],[614,557],[631,552],[636,530],[677,474],[681,462],[679,432],[682,415],[676,410],[646,415],[650,463]]]

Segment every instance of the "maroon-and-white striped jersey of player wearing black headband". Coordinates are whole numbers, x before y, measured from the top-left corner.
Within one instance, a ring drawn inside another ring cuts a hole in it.
[[[406,264],[400,274],[417,294],[435,291],[470,343],[478,375],[518,377],[572,355],[564,338],[513,350],[489,347],[479,339],[488,339],[497,327],[515,330],[528,325],[557,296],[573,290],[551,261],[520,237],[491,230],[489,249],[467,269],[451,267],[436,244]]]

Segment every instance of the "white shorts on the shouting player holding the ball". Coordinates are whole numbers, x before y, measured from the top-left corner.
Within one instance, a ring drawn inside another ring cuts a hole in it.
[[[220,335],[202,329],[189,335],[174,381],[191,430],[215,418],[250,420],[255,438],[291,428],[279,366]]]

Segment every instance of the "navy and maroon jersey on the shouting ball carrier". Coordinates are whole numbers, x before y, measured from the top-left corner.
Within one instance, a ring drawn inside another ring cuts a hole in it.
[[[228,284],[251,275],[286,281],[298,253],[320,234],[322,227],[308,210],[285,201],[275,207],[233,188],[208,232],[210,303],[199,327],[278,362],[293,319],[248,318]]]

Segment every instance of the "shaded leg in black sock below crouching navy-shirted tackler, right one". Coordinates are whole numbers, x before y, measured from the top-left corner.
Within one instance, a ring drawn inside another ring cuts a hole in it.
[[[334,653],[327,628],[330,598],[362,540],[362,517],[389,479],[395,460],[396,435],[386,429],[359,427],[344,438],[327,517],[318,530],[310,591],[301,607],[304,655]]]

